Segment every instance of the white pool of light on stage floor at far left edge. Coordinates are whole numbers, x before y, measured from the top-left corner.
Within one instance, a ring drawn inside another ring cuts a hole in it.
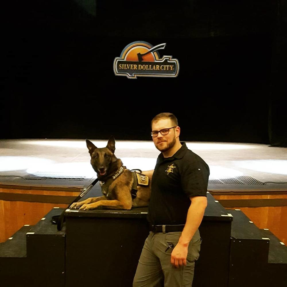
[[[30,166],[46,166],[53,160],[32,156],[0,156],[0,171],[25,170]]]

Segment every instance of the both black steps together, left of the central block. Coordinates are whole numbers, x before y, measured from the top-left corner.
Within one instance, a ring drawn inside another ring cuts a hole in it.
[[[65,227],[58,231],[51,223],[62,211],[52,209],[36,225],[23,226],[0,244],[3,286],[65,286]]]

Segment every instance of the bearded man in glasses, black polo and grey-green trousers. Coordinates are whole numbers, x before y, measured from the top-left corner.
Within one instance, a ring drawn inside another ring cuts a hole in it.
[[[198,227],[207,206],[208,165],[179,141],[177,118],[152,119],[152,139],[161,152],[152,175],[150,234],[139,259],[133,287],[191,287],[201,238]]]

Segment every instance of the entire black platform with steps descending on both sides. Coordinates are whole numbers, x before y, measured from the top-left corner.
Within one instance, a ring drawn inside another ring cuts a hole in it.
[[[35,226],[0,244],[5,286],[131,286],[148,234],[148,209],[67,209],[64,228],[58,231],[50,220],[62,211],[54,208]],[[287,284],[286,246],[240,210],[225,210],[210,193],[199,231],[193,287]]]

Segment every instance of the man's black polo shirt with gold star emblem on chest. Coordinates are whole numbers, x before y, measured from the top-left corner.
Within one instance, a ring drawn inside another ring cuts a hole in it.
[[[191,204],[189,197],[205,196],[209,167],[189,150],[185,142],[171,157],[158,156],[152,176],[149,203],[150,224],[185,224]]]

